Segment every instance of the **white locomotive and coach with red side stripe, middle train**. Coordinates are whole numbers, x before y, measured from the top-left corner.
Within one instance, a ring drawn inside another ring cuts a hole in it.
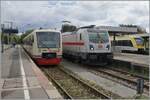
[[[62,43],[65,58],[90,65],[105,65],[113,58],[108,32],[93,25],[62,33]]]

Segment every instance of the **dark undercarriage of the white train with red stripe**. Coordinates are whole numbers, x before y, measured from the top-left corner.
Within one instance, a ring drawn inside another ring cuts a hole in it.
[[[88,65],[107,65],[112,63],[113,53],[63,53],[63,57]]]

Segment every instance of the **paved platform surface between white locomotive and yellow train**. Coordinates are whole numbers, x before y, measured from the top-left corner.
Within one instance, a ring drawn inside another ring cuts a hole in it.
[[[114,53],[114,59],[132,62],[135,65],[149,67],[149,55],[139,55],[130,53]]]

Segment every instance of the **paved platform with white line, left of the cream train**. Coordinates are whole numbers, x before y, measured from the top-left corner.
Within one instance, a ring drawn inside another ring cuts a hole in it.
[[[21,46],[1,54],[0,99],[62,99]]]

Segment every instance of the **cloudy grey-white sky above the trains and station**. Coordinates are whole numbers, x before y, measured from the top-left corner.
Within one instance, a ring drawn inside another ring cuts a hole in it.
[[[13,22],[24,32],[32,28],[73,25],[140,25],[149,32],[149,1],[1,1],[1,23]],[[6,23],[6,26],[8,23]]]

